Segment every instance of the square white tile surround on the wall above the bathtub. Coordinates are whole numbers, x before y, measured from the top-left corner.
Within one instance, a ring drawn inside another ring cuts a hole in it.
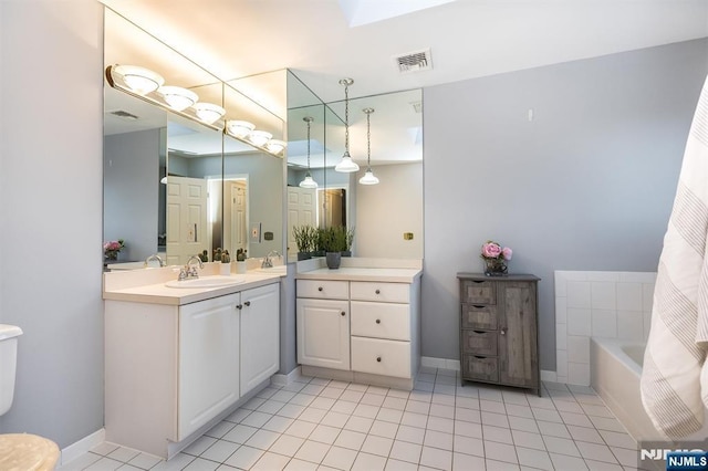
[[[646,342],[654,272],[555,271],[558,383],[590,385],[590,338]]]

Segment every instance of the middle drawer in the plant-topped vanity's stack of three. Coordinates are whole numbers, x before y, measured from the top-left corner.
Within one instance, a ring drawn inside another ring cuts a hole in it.
[[[352,335],[362,337],[410,339],[410,306],[408,304],[352,301]]]

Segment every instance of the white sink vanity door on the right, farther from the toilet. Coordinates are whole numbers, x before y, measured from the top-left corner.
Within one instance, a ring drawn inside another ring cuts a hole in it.
[[[241,293],[241,396],[280,369],[279,286]]]

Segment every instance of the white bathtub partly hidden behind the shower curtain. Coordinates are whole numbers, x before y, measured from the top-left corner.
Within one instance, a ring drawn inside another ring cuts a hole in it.
[[[644,411],[639,378],[646,344],[615,338],[591,338],[590,381],[610,410],[637,441],[663,440]],[[708,437],[706,423],[685,440],[702,440]]]

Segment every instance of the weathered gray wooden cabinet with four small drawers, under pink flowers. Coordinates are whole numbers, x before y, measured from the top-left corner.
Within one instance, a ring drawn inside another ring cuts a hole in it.
[[[528,274],[490,278],[458,273],[460,366],[466,380],[541,394],[538,282]]]

